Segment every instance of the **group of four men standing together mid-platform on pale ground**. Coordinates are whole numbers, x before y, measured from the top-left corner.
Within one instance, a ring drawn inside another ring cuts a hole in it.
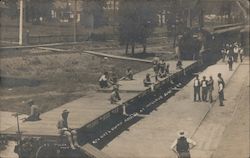
[[[221,76],[221,73],[218,73],[218,93],[220,106],[223,106],[224,100],[224,87],[225,82]],[[214,90],[214,80],[213,77],[210,76],[209,80],[206,79],[206,76],[203,76],[202,80],[199,79],[199,75],[196,75],[194,79],[194,101],[204,101],[204,102],[213,102],[213,90]],[[201,95],[200,95],[201,93]],[[198,100],[197,100],[198,96]],[[207,100],[208,99],[208,100]]]

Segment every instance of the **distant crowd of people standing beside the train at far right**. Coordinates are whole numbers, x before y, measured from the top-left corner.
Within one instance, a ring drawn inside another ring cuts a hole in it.
[[[222,61],[225,62],[227,59],[229,71],[232,71],[233,63],[238,62],[238,58],[240,58],[240,62],[243,62],[244,49],[239,43],[235,42],[234,44],[226,44],[224,48],[222,48],[221,54]]]

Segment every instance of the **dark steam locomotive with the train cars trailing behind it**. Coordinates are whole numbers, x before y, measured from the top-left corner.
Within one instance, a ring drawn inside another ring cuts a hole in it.
[[[244,24],[227,24],[212,28],[192,28],[179,35],[177,46],[181,60],[201,60],[211,64],[220,58],[220,50],[226,43],[242,43]]]

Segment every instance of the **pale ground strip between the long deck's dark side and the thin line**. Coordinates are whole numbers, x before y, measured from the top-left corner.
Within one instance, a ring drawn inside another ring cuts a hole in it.
[[[237,67],[237,65],[234,66]],[[200,78],[203,75],[213,76],[214,98],[218,94],[217,73],[219,72],[222,73],[226,83],[234,73],[234,71],[228,71],[228,65],[217,63],[200,74]],[[193,102],[193,81],[191,81],[162,104],[157,111],[131,126],[128,131],[107,144],[102,151],[115,158],[176,158],[170,147],[177,138],[177,132],[183,129],[188,136],[191,136],[210,107],[211,104],[207,102]]]

